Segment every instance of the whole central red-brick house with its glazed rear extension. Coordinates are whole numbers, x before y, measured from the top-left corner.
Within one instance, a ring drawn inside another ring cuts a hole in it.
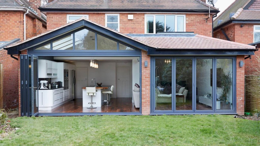
[[[5,47],[19,55],[21,116],[244,114],[241,62],[255,47],[212,38],[213,6],[54,0],[39,9],[48,31]]]

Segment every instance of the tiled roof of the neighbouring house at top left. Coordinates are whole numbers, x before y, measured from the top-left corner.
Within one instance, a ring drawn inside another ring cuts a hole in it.
[[[29,9],[30,4],[29,4],[29,1],[27,1],[27,0],[0,0],[0,8],[8,7],[8,6],[25,7],[25,8]],[[45,21],[47,20],[46,15],[43,14],[42,12],[41,12],[41,18],[43,18]]]

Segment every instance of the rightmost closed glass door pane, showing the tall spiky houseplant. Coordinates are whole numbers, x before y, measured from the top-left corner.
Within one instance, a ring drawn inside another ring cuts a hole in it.
[[[232,110],[233,59],[217,59],[217,110]]]

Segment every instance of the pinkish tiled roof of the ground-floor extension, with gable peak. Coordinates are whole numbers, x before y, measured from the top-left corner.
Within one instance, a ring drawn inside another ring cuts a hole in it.
[[[100,24],[97,24],[95,22],[92,22],[85,17],[82,17],[74,22],[68,23],[66,25],[63,25],[59,28],[50,30],[48,32],[45,32],[43,34],[37,35],[35,37],[29,38],[24,41],[17,42],[15,44],[9,45],[5,48],[10,48],[17,46],[19,44],[28,42],[30,40],[36,39],[43,35],[48,35],[50,32],[56,31],[58,29],[62,29],[65,26],[77,23],[81,20],[88,21],[90,23],[96,24],[100,27],[106,28],[110,31],[113,31],[117,34],[122,35],[122,37],[130,38],[136,42],[145,44],[152,48],[161,48],[161,49],[179,49],[179,50],[212,50],[212,49],[219,49],[219,50],[254,50],[254,46],[226,41],[222,39],[212,38],[212,37],[206,37],[202,35],[196,35],[196,34],[177,34],[177,35],[159,35],[159,34],[122,34],[118,31],[115,31],[113,29],[107,28],[105,26],[102,26]]]

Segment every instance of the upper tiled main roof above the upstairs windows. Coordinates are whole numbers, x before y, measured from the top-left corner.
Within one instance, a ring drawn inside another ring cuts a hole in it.
[[[200,0],[54,0],[42,9],[180,9],[180,10],[208,10],[209,5]],[[211,6],[212,10],[218,10]]]

